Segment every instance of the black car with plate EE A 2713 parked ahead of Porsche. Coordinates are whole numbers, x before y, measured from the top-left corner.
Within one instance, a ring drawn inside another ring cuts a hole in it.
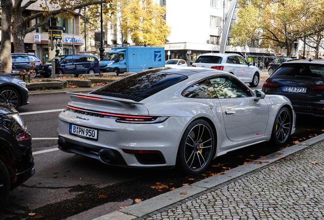
[[[324,116],[324,61],[287,61],[265,80],[262,92],[286,96],[296,113]]]

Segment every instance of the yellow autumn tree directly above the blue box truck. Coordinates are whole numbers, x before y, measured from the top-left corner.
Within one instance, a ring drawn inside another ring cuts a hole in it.
[[[131,33],[134,43],[144,46],[164,46],[166,38],[171,34],[170,27],[163,16],[166,7],[160,7],[152,0],[132,0],[122,10],[127,19],[125,29]]]

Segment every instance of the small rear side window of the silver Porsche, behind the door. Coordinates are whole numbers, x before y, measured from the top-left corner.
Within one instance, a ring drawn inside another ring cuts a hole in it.
[[[192,85],[182,95],[188,98],[217,98],[215,90],[207,79]]]

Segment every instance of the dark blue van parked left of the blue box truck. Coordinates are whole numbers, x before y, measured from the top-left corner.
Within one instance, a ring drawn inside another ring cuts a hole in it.
[[[61,55],[51,59],[48,63],[43,64],[44,73],[43,76],[48,77],[52,74],[51,63],[59,60],[61,65],[58,69],[59,75],[63,74],[74,74],[78,76],[79,74],[95,74],[99,73],[99,61],[96,56],[92,55]]]

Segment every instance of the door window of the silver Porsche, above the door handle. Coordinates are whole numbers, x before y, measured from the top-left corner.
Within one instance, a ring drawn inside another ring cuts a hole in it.
[[[218,76],[210,79],[210,82],[219,98],[252,96],[250,90],[234,77]]]

